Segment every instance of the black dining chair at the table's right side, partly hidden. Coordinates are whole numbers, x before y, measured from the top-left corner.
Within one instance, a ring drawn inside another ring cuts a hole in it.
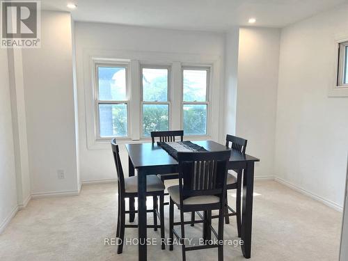
[[[237,136],[232,136],[230,134],[226,135],[226,147],[231,150],[237,150],[245,154],[246,152],[246,143],[248,141],[246,139],[239,138]],[[233,172],[237,173],[237,177],[233,175]],[[225,222],[226,224],[230,223],[230,216],[236,216],[237,219],[237,232],[238,237],[241,237],[242,230],[242,211],[241,211],[241,200],[242,200],[242,170],[228,170],[227,175],[227,191],[231,189],[236,189],[236,209],[232,209],[228,205],[228,196],[226,194],[226,205],[225,205]],[[198,216],[202,217],[202,215],[197,212]],[[219,215],[212,216],[212,219],[219,218]],[[195,214],[194,212],[191,214],[191,226],[194,226],[195,223]]]

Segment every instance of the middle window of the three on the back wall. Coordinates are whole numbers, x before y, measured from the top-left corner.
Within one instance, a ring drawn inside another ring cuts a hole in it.
[[[141,68],[143,136],[169,129],[169,68]]]

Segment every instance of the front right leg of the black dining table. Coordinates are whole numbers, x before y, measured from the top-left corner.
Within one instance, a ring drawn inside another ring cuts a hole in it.
[[[251,258],[251,225],[253,218],[254,162],[248,162],[244,170],[242,203],[242,252]]]

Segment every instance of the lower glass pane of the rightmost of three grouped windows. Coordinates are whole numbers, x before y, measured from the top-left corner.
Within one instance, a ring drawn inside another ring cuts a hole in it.
[[[184,104],[184,134],[207,134],[207,104]]]

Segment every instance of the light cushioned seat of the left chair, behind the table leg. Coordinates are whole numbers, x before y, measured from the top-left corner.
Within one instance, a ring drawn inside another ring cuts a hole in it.
[[[157,175],[146,176],[146,191],[164,191],[165,187],[163,182]],[[126,177],[125,178],[125,192],[126,193],[137,193],[138,192],[138,177]]]

